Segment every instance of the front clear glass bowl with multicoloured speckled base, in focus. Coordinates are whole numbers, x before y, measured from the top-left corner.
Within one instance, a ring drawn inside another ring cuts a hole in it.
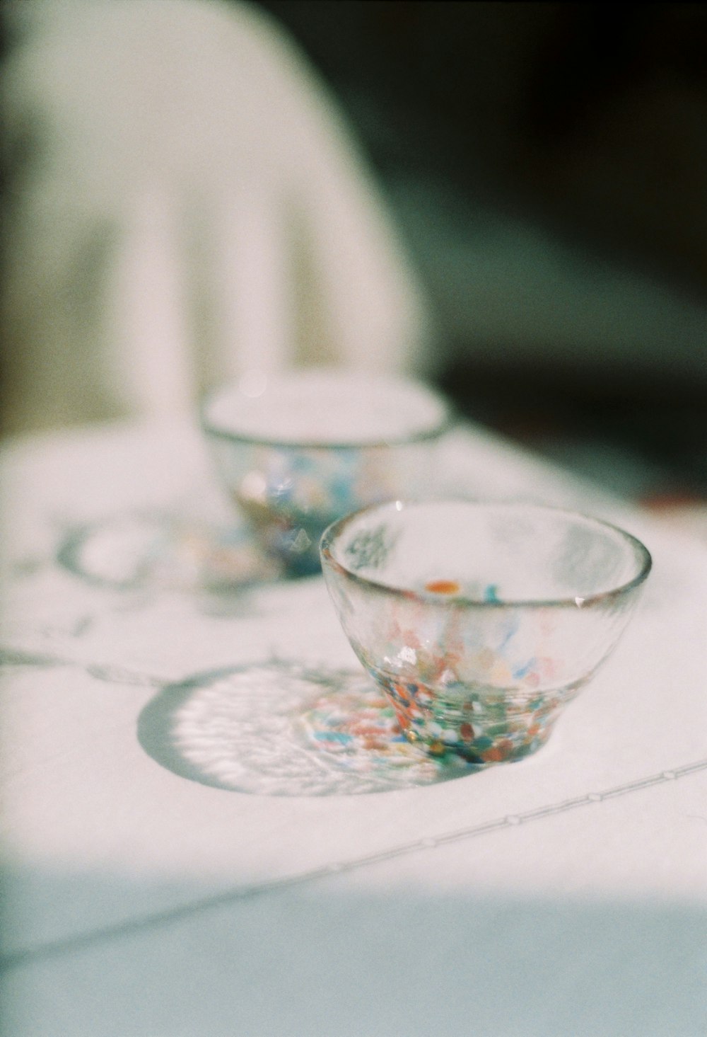
[[[478,764],[539,749],[616,645],[651,558],[635,537],[525,504],[396,501],[321,541],[351,645],[403,732]]]

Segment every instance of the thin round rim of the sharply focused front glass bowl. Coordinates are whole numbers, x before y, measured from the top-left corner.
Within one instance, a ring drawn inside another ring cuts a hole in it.
[[[475,597],[466,597],[463,594],[459,595],[445,595],[440,596],[434,591],[424,590],[413,590],[412,588],[395,587],[390,584],[384,584],[379,580],[374,580],[370,577],[360,576],[353,569],[348,568],[342,562],[337,561],[331,553],[331,544],[335,537],[338,537],[352,523],[356,522],[361,515],[373,514],[378,511],[380,513],[385,513],[386,511],[403,511],[406,508],[415,507],[425,507],[434,505],[446,505],[446,504],[463,504],[468,507],[473,507],[477,509],[484,508],[495,508],[503,510],[521,510],[521,509],[531,509],[534,511],[553,512],[555,514],[562,514],[572,518],[583,518],[586,522],[593,523],[596,526],[602,527],[603,529],[612,530],[615,533],[619,533],[620,536],[628,541],[635,549],[637,553],[637,562],[639,565],[639,571],[630,580],[625,583],[620,584],[618,587],[612,587],[609,590],[597,591],[593,594],[577,595],[573,597],[551,597],[551,598],[491,598],[482,599]],[[444,497],[431,500],[391,500],[384,503],[372,504],[367,507],[358,508],[356,511],[352,511],[347,515],[343,515],[341,518],[336,518],[332,522],[322,533],[319,541],[319,551],[322,561],[322,571],[326,572],[327,566],[335,569],[341,574],[346,577],[347,580],[358,584],[360,587],[365,587],[370,590],[377,591],[379,593],[385,593],[392,595],[396,598],[405,598],[407,600],[419,600],[425,605],[437,606],[441,609],[450,609],[455,607],[461,607],[465,609],[523,609],[523,608],[572,608],[572,609],[586,609],[593,605],[603,604],[610,601],[613,598],[621,597],[627,594],[629,591],[635,590],[640,587],[642,583],[648,578],[653,565],[653,559],[642,540],[639,540],[637,536],[629,533],[627,530],[622,529],[620,526],[616,526],[614,523],[607,522],[605,518],[598,518],[596,515],[587,514],[584,511],[579,511],[573,508],[563,508],[556,507],[551,504],[538,504],[535,502],[524,502],[524,501],[493,501],[493,500],[470,500],[464,497]]]

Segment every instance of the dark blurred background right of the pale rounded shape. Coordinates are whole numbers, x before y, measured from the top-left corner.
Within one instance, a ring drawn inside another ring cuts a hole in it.
[[[707,5],[254,5],[377,170],[458,407],[621,492],[707,496]]]

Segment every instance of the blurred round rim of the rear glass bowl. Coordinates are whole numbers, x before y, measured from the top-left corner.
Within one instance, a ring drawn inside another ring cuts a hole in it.
[[[302,368],[301,371],[282,371],[274,375],[275,380],[287,379],[288,375],[297,375],[306,372],[306,368]],[[329,373],[341,374],[342,381],[344,381],[347,375],[351,374],[362,374],[364,372],[360,371],[329,371]],[[206,436],[212,436],[219,440],[226,440],[230,443],[236,443],[248,446],[261,446],[270,447],[279,450],[333,450],[333,451],[344,451],[344,450],[382,450],[391,447],[406,447],[413,446],[418,443],[430,443],[435,440],[441,439],[446,436],[453,426],[456,424],[456,415],[454,409],[450,401],[444,396],[443,393],[438,391],[435,386],[429,385],[426,382],[408,377],[405,375],[392,375],[392,374],[371,374],[372,380],[384,379],[389,382],[395,382],[401,386],[414,389],[422,389],[430,396],[435,398],[435,401],[440,408],[440,419],[436,423],[430,425],[429,427],[420,428],[417,431],[409,432],[405,436],[390,437],[389,439],[351,439],[351,440],[296,440],[296,439],[278,439],[277,437],[266,437],[266,436],[253,436],[247,432],[237,432],[232,429],[220,427],[216,422],[212,421],[208,417],[208,409],[213,403],[214,399],[219,396],[227,389],[235,389],[237,387],[237,382],[232,382],[227,385],[217,386],[207,392],[202,398],[199,404],[199,423],[202,431]]]

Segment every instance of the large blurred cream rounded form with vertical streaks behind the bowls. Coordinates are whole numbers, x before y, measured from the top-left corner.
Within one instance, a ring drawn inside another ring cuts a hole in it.
[[[10,429],[170,415],[254,369],[423,370],[425,307],[377,186],[269,18],[225,0],[6,17]]]

